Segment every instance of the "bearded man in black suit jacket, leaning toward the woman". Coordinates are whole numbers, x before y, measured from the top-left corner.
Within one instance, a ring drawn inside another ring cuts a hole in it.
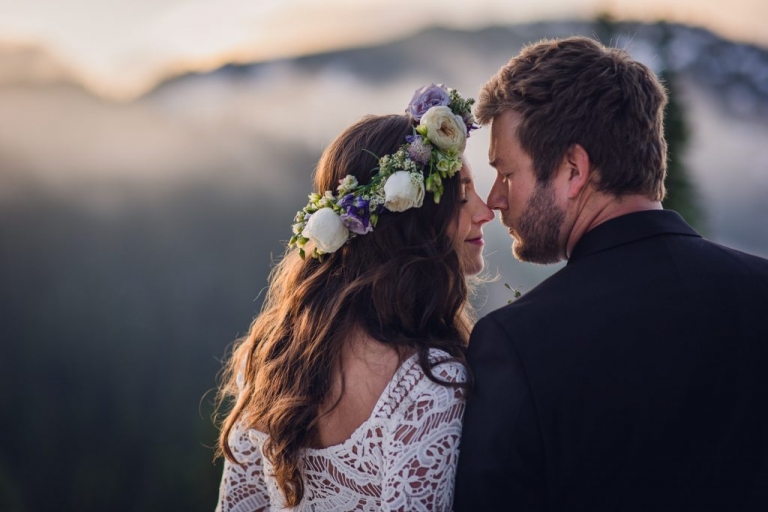
[[[768,510],[768,260],[662,209],[665,103],[586,38],[483,88],[488,205],[568,264],[472,333],[455,510]]]

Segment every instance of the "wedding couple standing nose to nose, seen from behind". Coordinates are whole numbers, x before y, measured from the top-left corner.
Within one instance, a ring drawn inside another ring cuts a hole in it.
[[[568,38],[342,133],[228,363],[219,509],[768,510],[768,261],[662,209],[665,102]],[[473,329],[491,209],[568,264]]]

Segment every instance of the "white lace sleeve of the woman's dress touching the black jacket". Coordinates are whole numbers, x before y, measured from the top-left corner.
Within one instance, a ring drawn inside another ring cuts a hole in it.
[[[466,370],[456,362],[434,368],[441,380],[465,382]],[[384,439],[383,510],[448,511],[459,456],[464,391],[430,381],[423,373],[408,384],[412,400],[402,417],[393,418]]]

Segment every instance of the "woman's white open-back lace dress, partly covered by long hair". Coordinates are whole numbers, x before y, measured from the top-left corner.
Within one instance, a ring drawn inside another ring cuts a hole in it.
[[[443,351],[432,373],[465,382],[464,367]],[[459,456],[464,393],[429,380],[416,355],[395,372],[371,417],[341,444],[307,449],[304,499],[296,511],[450,510]],[[230,446],[243,465],[225,463],[219,512],[291,510],[262,458],[267,435],[234,430]]]

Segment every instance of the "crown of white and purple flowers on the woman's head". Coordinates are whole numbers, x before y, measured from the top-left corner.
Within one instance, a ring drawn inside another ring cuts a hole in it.
[[[336,195],[309,194],[309,203],[296,213],[289,247],[312,242],[312,257],[322,259],[357,235],[370,233],[384,212],[420,208],[424,191],[435,203],[443,195],[443,180],[462,166],[461,155],[469,132],[477,128],[472,117],[474,99],[464,99],[455,89],[430,84],[417,90],[406,112],[419,124],[396,153],[378,157],[378,170],[360,185],[352,175],[339,181]],[[373,153],[371,153],[373,154]]]

